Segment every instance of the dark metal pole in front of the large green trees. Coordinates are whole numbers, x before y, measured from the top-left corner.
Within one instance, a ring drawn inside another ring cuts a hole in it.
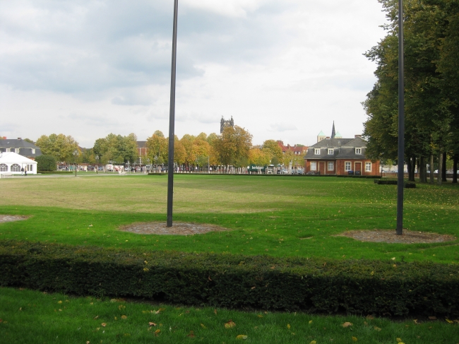
[[[403,186],[405,174],[405,85],[403,73],[403,0],[398,0],[398,183],[397,235],[403,235]]]

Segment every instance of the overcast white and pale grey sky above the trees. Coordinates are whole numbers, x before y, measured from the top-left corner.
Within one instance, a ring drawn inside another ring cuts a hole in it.
[[[0,1],[0,136],[169,131],[173,0]],[[179,0],[175,133],[362,133],[377,0]]]

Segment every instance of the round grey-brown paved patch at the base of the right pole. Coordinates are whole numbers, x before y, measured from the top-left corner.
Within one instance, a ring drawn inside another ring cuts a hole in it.
[[[431,244],[451,242],[453,235],[403,230],[403,235],[396,235],[395,230],[348,230],[336,237],[351,237],[361,242],[387,242],[389,244]]]

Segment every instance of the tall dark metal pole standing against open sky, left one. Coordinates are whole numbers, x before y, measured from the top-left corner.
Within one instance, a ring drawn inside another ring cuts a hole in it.
[[[172,68],[169,108],[169,161],[167,171],[167,223],[172,227],[172,203],[174,199],[174,137],[175,137],[175,70],[177,64],[177,8],[179,0],[174,0],[174,29],[172,30]]]

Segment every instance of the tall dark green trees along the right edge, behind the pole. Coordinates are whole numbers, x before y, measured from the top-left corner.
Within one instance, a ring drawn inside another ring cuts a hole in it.
[[[398,151],[398,1],[378,1],[389,23],[386,37],[365,54],[378,67],[363,103],[364,136],[367,155],[384,162],[395,160]],[[421,182],[427,182],[427,164],[434,170],[434,162],[446,180],[447,156],[454,173],[459,158],[459,0],[404,3],[405,161],[410,180],[417,165]]]

